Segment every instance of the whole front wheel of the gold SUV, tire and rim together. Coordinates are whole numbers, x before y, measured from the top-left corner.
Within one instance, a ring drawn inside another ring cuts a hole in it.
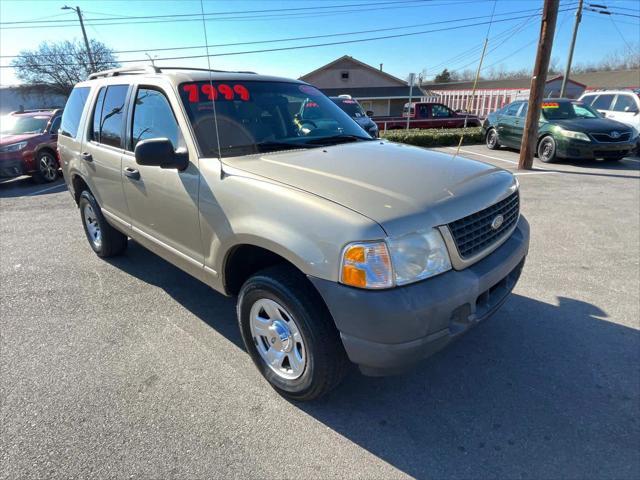
[[[349,363],[333,319],[294,268],[272,267],[247,280],[237,313],[247,352],[281,395],[314,400],[342,380]]]

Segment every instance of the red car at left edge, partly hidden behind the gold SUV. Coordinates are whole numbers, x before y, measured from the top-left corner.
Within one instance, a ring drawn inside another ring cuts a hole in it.
[[[58,178],[58,129],[62,109],[25,110],[0,118],[0,178],[31,175],[38,183]]]

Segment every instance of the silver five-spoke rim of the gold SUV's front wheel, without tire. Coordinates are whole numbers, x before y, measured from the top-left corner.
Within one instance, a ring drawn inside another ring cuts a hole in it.
[[[268,298],[257,300],[249,315],[253,343],[262,360],[285,380],[299,378],[307,365],[307,349],[293,316]]]

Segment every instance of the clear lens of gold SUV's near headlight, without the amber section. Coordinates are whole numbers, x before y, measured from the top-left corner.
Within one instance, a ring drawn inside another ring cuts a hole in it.
[[[389,240],[396,285],[405,285],[451,270],[449,252],[434,228]]]

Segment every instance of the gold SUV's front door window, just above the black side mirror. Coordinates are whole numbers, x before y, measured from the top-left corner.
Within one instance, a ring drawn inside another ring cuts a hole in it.
[[[136,94],[131,131],[131,150],[139,141],[168,138],[174,148],[181,146],[180,129],[167,97],[158,90],[140,88]]]

